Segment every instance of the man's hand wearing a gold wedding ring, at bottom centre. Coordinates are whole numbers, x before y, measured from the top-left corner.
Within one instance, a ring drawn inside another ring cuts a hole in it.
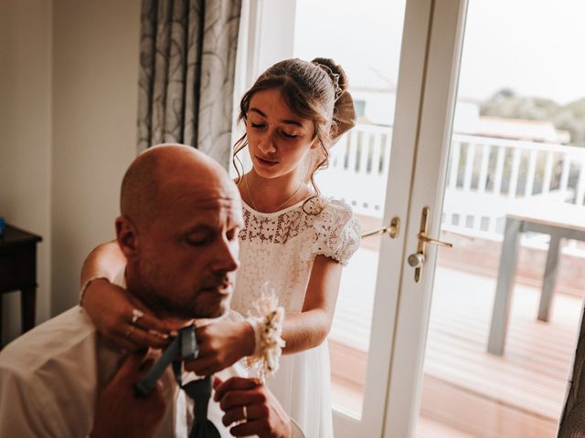
[[[229,430],[234,436],[258,435],[260,438],[290,438],[291,418],[271,391],[254,379],[232,377],[227,381],[216,378],[214,400],[226,414],[224,425],[240,422]],[[247,418],[244,418],[246,407]],[[241,422],[245,420],[246,422]]]

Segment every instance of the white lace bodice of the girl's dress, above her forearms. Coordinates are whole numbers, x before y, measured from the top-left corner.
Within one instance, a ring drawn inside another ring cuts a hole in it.
[[[346,265],[359,245],[359,225],[341,201],[319,197],[271,214],[243,203],[243,216],[231,304],[242,315],[255,308],[266,282],[287,315],[300,312],[315,255]]]

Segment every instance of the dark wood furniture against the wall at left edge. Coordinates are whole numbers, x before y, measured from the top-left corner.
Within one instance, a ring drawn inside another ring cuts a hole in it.
[[[35,327],[37,298],[37,243],[42,238],[6,224],[0,237],[0,343],[2,342],[2,295],[20,290],[23,333]]]

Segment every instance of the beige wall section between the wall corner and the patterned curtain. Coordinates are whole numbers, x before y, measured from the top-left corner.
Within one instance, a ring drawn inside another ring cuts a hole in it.
[[[135,156],[140,0],[53,2],[52,311],[78,299],[90,249],[112,239]]]

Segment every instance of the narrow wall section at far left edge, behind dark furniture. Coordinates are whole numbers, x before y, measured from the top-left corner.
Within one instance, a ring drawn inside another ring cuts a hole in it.
[[[0,215],[43,237],[37,320],[50,308],[50,13],[46,0],[0,1]],[[20,332],[19,298],[0,298],[4,341]]]

